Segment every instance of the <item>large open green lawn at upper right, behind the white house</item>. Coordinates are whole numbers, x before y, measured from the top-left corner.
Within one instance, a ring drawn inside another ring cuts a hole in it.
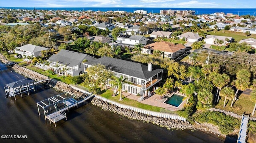
[[[235,41],[238,41],[238,42],[242,39],[256,38],[255,34],[251,34],[250,36],[246,37],[245,33],[234,32],[234,31],[226,31],[226,30],[216,31],[216,33],[214,33],[214,30],[213,31],[208,31],[207,34],[208,35],[233,37],[235,39]]]

